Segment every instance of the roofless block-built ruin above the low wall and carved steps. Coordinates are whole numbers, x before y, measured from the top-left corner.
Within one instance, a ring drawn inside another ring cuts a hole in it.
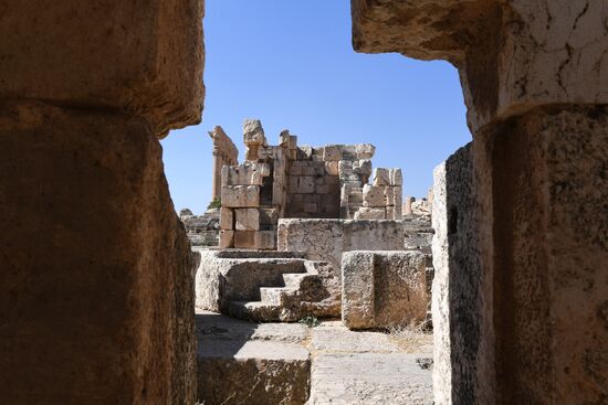
[[[245,161],[221,169],[220,248],[275,249],[280,219],[402,219],[401,170],[376,169],[368,184],[373,145],[297,146],[284,130],[270,146],[254,119],[243,139]]]

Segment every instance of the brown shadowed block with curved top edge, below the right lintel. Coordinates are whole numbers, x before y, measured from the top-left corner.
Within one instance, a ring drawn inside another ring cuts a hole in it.
[[[605,398],[598,370],[608,328],[598,313],[608,297],[607,139],[605,106],[570,106],[509,120],[476,146],[482,206],[493,215],[493,238],[482,241],[494,247],[482,244],[482,263],[493,267],[496,381],[505,401]]]

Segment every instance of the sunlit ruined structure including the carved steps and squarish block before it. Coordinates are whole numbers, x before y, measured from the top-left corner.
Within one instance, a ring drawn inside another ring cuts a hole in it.
[[[406,249],[400,169],[373,170],[369,143],[298,146],[284,130],[280,143],[270,146],[254,119],[244,121],[243,139],[245,161],[221,168],[219,251],[200,252],[197,308],[262,322],[339,318],[343,300],[355,299],[343,294],[350,291],[343,283],[349,279],[343,276],[343,253],[394,251],[389,273],[411,268],[421,277],[412,291],[426,301],[405,316],[403,296],[391,295],[392,308],[400,308],[395,316],[347,324],[377,328],[427,317],[430,252],[410,248],[405,260],[399,255]],[[390,281],[396,289],[399,277]],[[378,278],[377,289],[389,278]]]

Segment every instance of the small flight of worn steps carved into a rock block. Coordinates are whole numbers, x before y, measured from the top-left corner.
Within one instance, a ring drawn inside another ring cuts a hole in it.
[[[339,301],[323,283],[326,262],[304,260],[302,273],[284,273],[280,283],[260,287],[259,300],[231,301],[229,315],[254,322],[295,322],[306,316],[339,315]]]

